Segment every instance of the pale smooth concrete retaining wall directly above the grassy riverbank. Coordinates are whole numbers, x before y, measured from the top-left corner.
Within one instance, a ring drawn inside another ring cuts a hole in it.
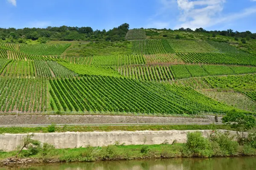
[[[75,148],[91,146],[106,146],[119,141],[121,144],[161,144],[165,140],[172,143],[175,139],[178,143],[186,142],[186,134],[196,130],[163,130],[163,131],[112,131],[112,132],[65,132],[65,133],[35,133],[33,139],[42,143],[53,144],[56,148]],[[207,136],[211,130],[198,130],[203,136]],[[226,130],[221,130],[222,132]],[[236,134],[236,132],[231,132]],[[15,150],[21,144],[27,134],[1,134],[0,150]]]

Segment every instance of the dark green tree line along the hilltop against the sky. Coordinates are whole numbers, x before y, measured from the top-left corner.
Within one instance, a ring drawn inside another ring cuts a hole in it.
[[[140,28],[144,29],[144,28]],[[212,37],[216,35],[234,37],[235,39],[256,39],[256,33],[250,31],[233,31],[228,29],[226,31],[207,31],[204,28],[196,28],[192,30],[191,28],[179,28],[177,30],[172,29],[157,29],[149,28],[155,31],[186,31],[186,32],[201,32],[212,34]],[[47,28],[0,28],[0,40],[7,40],[7,42],[19,42],[25,43],[27,39],[38,40],[39,42],[45,43],[47,40],[62,40],[62,41],[124,41],[125,35],[129,30],[129,24],[124,23],[117,28],[102,31],[96,29],[93,30],[91,27],[70,27],[70,26],[60,26]],[[150,35],[155,35],[157,32],[148,31]]]

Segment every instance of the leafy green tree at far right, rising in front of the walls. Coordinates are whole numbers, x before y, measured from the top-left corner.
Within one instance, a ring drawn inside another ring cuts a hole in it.
[[[227,115],[222,118],[222,121],[232,128],[236,128],[238,139],[243,139],[244,131],[252,129],[256,122],[253,116],[247,116],[235,110],[228,112]],[[238,132],[241,132],[241,137]]]

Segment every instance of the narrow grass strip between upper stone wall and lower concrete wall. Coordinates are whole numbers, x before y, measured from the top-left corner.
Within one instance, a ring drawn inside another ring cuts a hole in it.
[[[234,130],[228,125],[145,125],[145,126],[63,126],[54,127],[55,132],[92,132],[92,131],[136,131],[136,130]],[[49,127],[1,127],[3,133],[48,133]]]

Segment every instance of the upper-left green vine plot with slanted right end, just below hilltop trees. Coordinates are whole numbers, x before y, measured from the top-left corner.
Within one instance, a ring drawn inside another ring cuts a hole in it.
[[[62,54],[71,44],[35,44],[27,45],[21,44],[20,51],[27,54],[37,54],[37,55],[60,55]]]

